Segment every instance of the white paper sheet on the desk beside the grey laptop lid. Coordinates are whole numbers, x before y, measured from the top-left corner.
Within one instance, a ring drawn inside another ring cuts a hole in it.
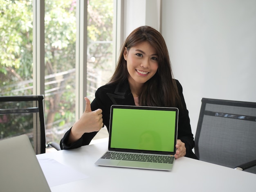
[[[38,161],[49,187],[89,178],[89,176],[65,166],[54,159],[38,159]]]

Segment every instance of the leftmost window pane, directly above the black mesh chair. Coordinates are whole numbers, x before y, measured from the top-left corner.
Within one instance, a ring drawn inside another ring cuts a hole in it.
[[[0,4],[0,95],[31,95],[32,0],[0,0]]]

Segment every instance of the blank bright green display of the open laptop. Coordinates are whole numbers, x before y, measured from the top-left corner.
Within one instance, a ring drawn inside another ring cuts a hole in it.
[[[174,152],[175,111],[113,109],[111,148]]]

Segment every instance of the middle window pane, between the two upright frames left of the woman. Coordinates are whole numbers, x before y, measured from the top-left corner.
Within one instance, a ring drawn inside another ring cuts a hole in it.
[[[45,0],[46,142],[75,121],[76,1]]]

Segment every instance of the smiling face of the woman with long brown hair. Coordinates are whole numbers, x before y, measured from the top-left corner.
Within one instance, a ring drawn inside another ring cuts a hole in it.
[[[124,59],[127,62],[130,84],[143,84],[155,75],[158,68],[158,55],[149,42],[141,42],[129,50],[125,48]]]

